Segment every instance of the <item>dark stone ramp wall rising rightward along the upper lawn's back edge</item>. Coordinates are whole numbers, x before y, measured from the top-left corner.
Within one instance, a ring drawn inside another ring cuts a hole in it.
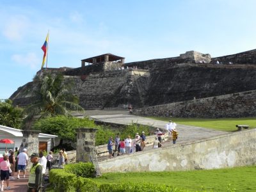
[[[256,116],[255,98],[256,90],[252,90],[134,109],[133,113],[144,116],[193,118]]]

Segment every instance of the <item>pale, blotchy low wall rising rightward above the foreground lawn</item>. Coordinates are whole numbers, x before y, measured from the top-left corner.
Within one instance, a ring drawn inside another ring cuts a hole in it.
[[[256,163],[256,129],[224,134],[207,140],[191,141],[118,156],[99,162],[101,173],[159,172],[227,168]]]

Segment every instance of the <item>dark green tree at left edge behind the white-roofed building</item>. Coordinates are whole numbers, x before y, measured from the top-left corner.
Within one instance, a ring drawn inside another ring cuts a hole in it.
[[[12,100],[0,100],[0,125],[19,129],[22,118],[22,109],[13,107]]]

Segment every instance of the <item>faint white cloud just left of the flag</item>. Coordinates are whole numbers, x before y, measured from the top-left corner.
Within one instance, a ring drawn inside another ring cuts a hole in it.
[[[33,52],[29,52],[28,54],[13,54],[12,60],[32,69],[38,68],[40,65],[40,59]]]

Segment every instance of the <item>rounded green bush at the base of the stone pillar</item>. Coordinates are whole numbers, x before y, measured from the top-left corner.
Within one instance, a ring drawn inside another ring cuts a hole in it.
[[[95,169],[92,163],[66,164],[65,172],[73,173],[77,177],[95,177]]]

